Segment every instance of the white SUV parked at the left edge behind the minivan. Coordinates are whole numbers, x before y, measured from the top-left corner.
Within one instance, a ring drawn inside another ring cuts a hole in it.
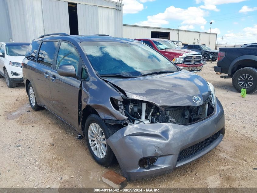
[[[0,77],[5,77],[9,88],[23,82],[22,60],[30,43],[0,42]]]

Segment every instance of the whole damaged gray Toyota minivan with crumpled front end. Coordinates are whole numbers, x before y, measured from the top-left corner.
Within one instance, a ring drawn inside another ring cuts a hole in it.
[[[74,127],[97,163],[117,159],[128,180],[172,172],[224,136],[214,86],[142,42],[47,34],[22,65],[32,109]]]

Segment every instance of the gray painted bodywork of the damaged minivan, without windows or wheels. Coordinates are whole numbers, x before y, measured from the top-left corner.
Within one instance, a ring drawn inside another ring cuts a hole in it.
[[[56,41],[55,38],[46,39]],[[39,105],[46,107],[62,120],[69,123],[82,135],[84,135],[84,125],[82,125],[82,121],[79,120],[78,116],[80,113],[78,103],[80,102],[82,112],[90,106],[104,120],[127,119],[126,116],[113,108],[110,97],[121,101],[123,99],[107,82],[115,85],[120,91],[124,91],[127,97],[149,101],[159,105],[159,107],[167,105],[197,106],[192,102],[192,96],[198,95],[202,99],[202,102],[198,105],[203,104],[203,101],[209,96],[210,88],[207,82],[200,76],[184,70],[176,73],[150,75],[132,79],[107,78],[103,80],[96,74],[77,42],[85,40],[100,41],[102,38],[104,39],[103,41],[134,41],[113,37],[60,37],[60,39],[71,41],[78,49],[82,61],[85,63],[89,77],[88,80],[81,80],[80,77],[63,77],[60,75],[60,77],[57,77],[56,70],[46,68],[46,66],[29,61],[28,59],[23,60],[24,82],[26,84],[26,80],[31,81]],[[45,72],[49,76],[55,73],[56,80],[52,81],[50,77],[45,77]],[[51,99],[52,89],[55,92],[53,101]],[[79,98],[79,93],[81,93],[81,98]],[[53,108],[55,104],[59,106],[58,110],[56,107]],[[62,106],[64,108],[63,112],[61,109]],[[70,113],[72,113],[72,116]],[[70,119],[67,118],[68,116],[71,116]],[[118,130],[106,142],[115,153],[124,176],[128,180],[138,180],[171,172],[176,167],[182,166],[204,155],[220,143],[224,135],[224,125],[224,112],[220,102],[217,100],[215,112],[205,120],[189,125],[173,123],[130,124]],[[213,144],[183,163],[176,162],[181,149],[203,141],[218,130],[221,130],[221,136]],[[146,156],[160,156],[156,162],[158,165],[151,167],[150,170],[139,168],[139,159]]]

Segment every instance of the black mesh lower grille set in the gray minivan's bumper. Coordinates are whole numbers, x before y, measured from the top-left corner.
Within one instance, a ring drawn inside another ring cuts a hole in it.
[[[209,138],[195,145],[192,145],[186,149],[183,149],[181,152],[179,152],[179,157],[177,159],[177,162],[192,157],[196,153],[200,152],[201,150],[203,150],[204,148],[212,144],[219,136],[220,136],[220,131],[218,131],[214,135],[210,136]]]

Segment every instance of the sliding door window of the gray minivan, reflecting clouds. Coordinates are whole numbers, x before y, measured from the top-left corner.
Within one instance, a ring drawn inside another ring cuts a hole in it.
[[[58,41],[44,41],[41,44],[37,62],[43,65],[52,67],[54,61],[54,52],[56,50]]]

